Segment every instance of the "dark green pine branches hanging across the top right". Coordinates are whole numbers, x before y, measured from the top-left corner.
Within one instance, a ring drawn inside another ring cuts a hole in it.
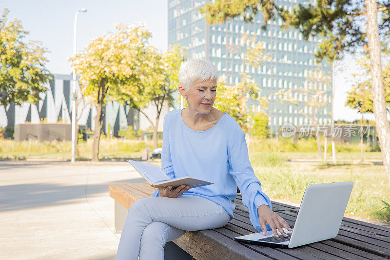
[[[379,24],[379,34],[383,37],[390,35],[389,9],[388,0],[378,1],[378,10],[384,11]],[[260,10],[265,26],[280,17],[283,28],[299,29],[305,40],[313,36],[324,37],[316,53],[318,61],[324,58],[339,60],[345,52],[353,53],[356,47],[368,43],[362,26],[367,19],[363,0],[316,0],[314,5],[298,4],[291,11],[279,6],[275,0],[215,0],[199,9],[211,24],[239,16],[253,21]]]

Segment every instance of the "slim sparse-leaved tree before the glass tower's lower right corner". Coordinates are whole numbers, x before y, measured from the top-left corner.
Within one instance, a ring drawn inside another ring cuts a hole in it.
[[[321,139],[319,137],[318,110],[328,102],[326,88],[330,85],[330,77],[322,71],[309,71],[304,86],[296,89],[280,89],[275,95],[279,101],[293,104],[298,114],[303,115],[309,122],[315,124],[317,139],[317,151],[319,158],[322,157]]]

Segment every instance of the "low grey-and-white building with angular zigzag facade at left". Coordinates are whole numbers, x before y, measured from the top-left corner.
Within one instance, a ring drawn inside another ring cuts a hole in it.
[[[14,103],[4,107],[0,106],[0,127],[14,127],[15,124],[24,123],[71,123],[71,74],[54,74],[54,80],[46,84],[47,92],[41,93],[40,100],[36,104],[27,102],[21,105]],[[79,91],[79,90],[78,90]],[[116,101],[108,101],[103,107],[105,117],[103,121],[103,129],[106,135],[117,136],[118,130],[133,126],[134,130],[147,130],[150,127],[146,117],[137,110],[130,110],[129,106],[121,105]],[[156,118],[156,109],[149,106],[142,111],[150,118]],[[164,114],[168,108],[164,106],[162,111]],[[94,130],[94,116],[96,108],[93,104],[83,102],[78,105],[78,125],[85,126],[85,129]],[[162,131],[163,120],[160,120],[158,130]],[[50,132],[50,131],[49,131]],[[37,133],[38,136],[38,133]],[[29,137],[26,137],[28,139]],[[31,136],[34,139],[34,136]]]

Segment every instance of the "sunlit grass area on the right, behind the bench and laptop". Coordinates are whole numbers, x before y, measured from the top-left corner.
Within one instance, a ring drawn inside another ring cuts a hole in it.
[[[279,158],[282,163],[259,163],[265,156],[270,155],[252,153],[250,159],[264,192],[272,199],[300,203],[308,184],[351,180],[354,187],[346,212],[374,220],[390,220],[390,201],[386,197],[390,187],[383,166],[288,162],[283,156]],[[277,160],[277,156],[274,154],[273,160]],[[389,204],[385,204],[386,201]]]

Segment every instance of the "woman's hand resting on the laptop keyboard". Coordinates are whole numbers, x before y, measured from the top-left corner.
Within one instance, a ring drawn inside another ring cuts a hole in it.
[[[259,219],[261,229],[263,230],[263,236],[265,236],[267,233],[266,225],[269,224],[273,235],[276,238],[279,237],[277,230],[279,230],[284,237],[287,237],[286,233],[283,231],[283,227],[285,227],[288,231],[291,231],[291,228],[289,224],[287,224],[286,220],[283,220],[279,215],[273,212],[268,205],[260,205],[257,208],[257,211],[259,212]]]

